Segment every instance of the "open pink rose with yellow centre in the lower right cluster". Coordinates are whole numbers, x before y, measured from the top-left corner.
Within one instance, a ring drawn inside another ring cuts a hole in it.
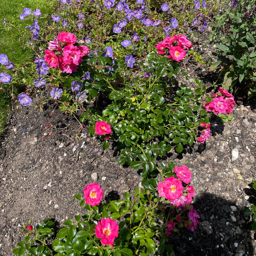
[[[166,199],[173,201],[183,194],[183,186],[181,181],[174,177],[169,177],[163,182],[163,193]]]

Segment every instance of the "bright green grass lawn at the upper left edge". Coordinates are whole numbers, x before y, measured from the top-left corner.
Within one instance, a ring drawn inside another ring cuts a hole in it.
[[[35,18],[33,13],[29,15],[29,20],[21,21],[19,14],[22,13],[25,7],[30,8],[31,11],[39,8],[41,13],[51,13],[52,6],[56,1],[50,0],[0,0],[0,54],[6,54],[9,61],[15,65],[22,65],[25,61],[31,61],[34,57],[34,52],[30,47],[26,47],[22,43],[22,37],[30,39],[30,30],[24,27],[32,24],[32,17]],[[5,18],[6,24],[3,26],[3,19]],[[41,17],[39,18],[39,22]],[[0,65],[1,66],[1,65]],[[0,67],[1,71],[1,67]],[[4,89],[10,88],[11,84],[1,84]],[[0,86],[0,87],[1,87]],[[10,110],[12,103],[10,92],[3,92],[0,90],[0,133]]]

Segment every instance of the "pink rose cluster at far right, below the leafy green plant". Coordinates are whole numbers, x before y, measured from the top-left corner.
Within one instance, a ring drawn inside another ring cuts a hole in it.
[[[234,96],[227,90],[219,87],[218,93],[212,95],[213,101],[209,103],[203,103],[204,108],[215,114],[231,114],[236,102],[234,101]]]

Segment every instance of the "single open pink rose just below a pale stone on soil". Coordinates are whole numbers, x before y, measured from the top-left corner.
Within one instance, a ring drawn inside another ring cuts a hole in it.
[[[91,206],[99,205],[101,199],[103,198],[103,190],[97,183],[92,183],[86,185],[84,189],[84,199],[86,204]]]

